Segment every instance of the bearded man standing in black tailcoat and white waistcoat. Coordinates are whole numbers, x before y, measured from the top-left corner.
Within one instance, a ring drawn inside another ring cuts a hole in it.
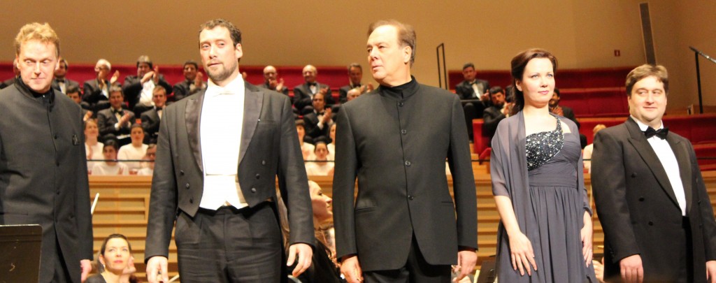
[[[172,229],[184,282],[281,282],[311,265],[308,181],[289,97],[241,78],[241,31],[200,27],[205,91],[162,116],[147,225],[147,279],[168,281]],[[289,213],[289,259],[276,214],[276,176]]]

